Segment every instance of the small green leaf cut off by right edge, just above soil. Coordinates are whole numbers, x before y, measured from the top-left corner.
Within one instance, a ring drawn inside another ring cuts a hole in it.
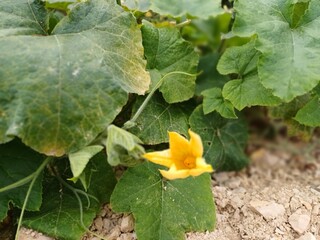
[[[294,117],[300,124],[319,127],[320,126],[320,99],[319,96],[313,97]]]

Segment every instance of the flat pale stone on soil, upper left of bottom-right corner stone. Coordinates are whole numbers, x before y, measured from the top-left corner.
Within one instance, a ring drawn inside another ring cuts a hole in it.
[[[283,205],[275,202],[254,200],[250,202],[250,206],[265,219],[274,219],[285,213]]]

